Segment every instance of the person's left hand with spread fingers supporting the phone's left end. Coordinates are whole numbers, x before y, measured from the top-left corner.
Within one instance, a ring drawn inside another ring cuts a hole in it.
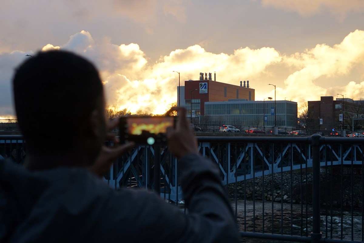
[[[116,118],[108,125],[108,131],[116,128],[119,125],[119,118]],[[95,163],[89,167],[89,170],[99,177],[105,175],[110,170],[112,163],[124,154],[128,149],[132,148],[135,144],[129,142],[127,144],[120,145],[119,139],[114,135],[108,134],[105,138],[106,141],[112,141],[114,146],[102,146],[99,156],[96,158]]]

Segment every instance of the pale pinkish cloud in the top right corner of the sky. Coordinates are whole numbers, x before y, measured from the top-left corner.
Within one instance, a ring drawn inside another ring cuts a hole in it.
[[[329,11],[338,19],[344,19],[350,12],[363,12],[364,1],[362,0],[262,0],[265,7],[284,9],[285,11],[298,12],[301,16],[309,17]]]

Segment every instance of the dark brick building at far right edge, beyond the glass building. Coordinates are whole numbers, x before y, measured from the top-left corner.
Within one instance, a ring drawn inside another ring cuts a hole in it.
[[[320,101],[308,101],[307,128],[320,131],[362,129],[364,121],[360,119],[364,114],[363,102],[350,98],[336,98],[334,101],[333,96],[321,96]]]

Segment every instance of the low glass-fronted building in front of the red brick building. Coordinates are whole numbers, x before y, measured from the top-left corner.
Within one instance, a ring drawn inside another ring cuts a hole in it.
[[[297,102],[276,101],[276,109],[278,127],[296,128]],[[274,126],[274,101],[205,102],[205,116],[209,124]]]

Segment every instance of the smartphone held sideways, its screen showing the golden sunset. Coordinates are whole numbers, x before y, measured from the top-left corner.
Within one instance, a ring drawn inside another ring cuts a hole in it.
[[[120,117],[120,142],[139,145],[167,143],[167,128],[175,126],[176,116]]]

